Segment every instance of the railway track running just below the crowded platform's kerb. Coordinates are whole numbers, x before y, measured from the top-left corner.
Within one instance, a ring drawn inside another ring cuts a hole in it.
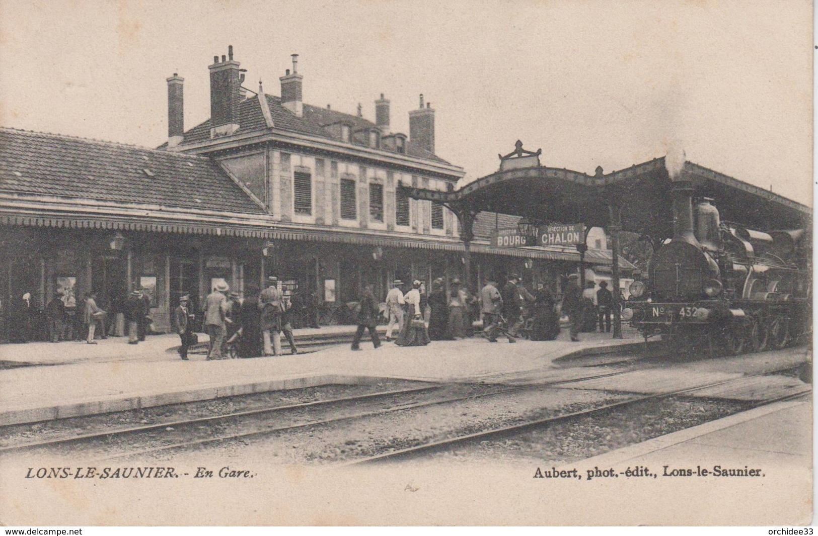
[[[585,380],[591,380],[596,378],[602,377],[610,377],[610,376],[617,376],[619,374],[630,372],[630,369],[622,369],[607,373],[600,373],[600,374],[589,374],[583,375],[582,377],[577,378],[569,378],[569,379],[559,379],[554,380],[553,382],[546,382],[537,384],[536,386],[506,386],[502,384],[497,384],[497,389],[490,389],[489,391],[478,393],[478,394],[470,394],[470,395],[461,395],[461,396],[454,396],[454,397],[446,397],[439,400],[427,400],[422,402],[410,403],[410,404],[395,404],[390,406],[386,409],[379,409],[375,411],[364,411],[359,413],[353,413],[351,415],[344,415],[337,418],[326,418],[326,419],[319,419],[319,420],[312,420],[308,422],[299,422],[293,425],[288,426],[280,426],[280,427],[263,427],[262,429],[253,430],[253,431],[243,431],[241,433],[234,433],[234,434],[224,434],[221,436],[211,436],[206,438],[201,438],[197,440],[190,440],[190,441],[179,441],[173,444],[166,444],[161,445],[151,449],[140,449],[140,450],[133,450],[128,451],[127,453],[116,454],[114,456],[105,457],[101,459],[113,459],[113,458],[124,458],[128,456],[135,456],[138,454],[145,454],[145,453],[156,453],[164,450],[172,450],[172,449],[182,449],[185,447],[191,447],[201,444],[209,444],[209,443],[218,443],[219,441],[225,440],[233,440],[233,439],[240,439],[246,438],[251,436],[259,436],[267,433],[272,433],[276,431],[290,431],[290,430],[297,430],[299,428],[304,427],[312,427],[318,426],[321,424],[328,424],[332,422],[343,422],[351,419],[357,418],[365,418],[375,415],[380,415],[384,413],[391,413],[396,411],[402,411],[406,409],[418,409],[424,408],[428,406],[440,405],[440,404],[452,404],[456,402],[461,402],[465,400],[475,400],[479,398],[483,398],[486,396],[493,396],[493,395],[503,395],[512,393],[515,391],[524,391],[527,389],[540,389],[542,387],[546,387],[549,385],[555,384],[564,384],[564,383],[571,383],[571,382],[582,382]],[[400,390],[393,390],[393,391],[379,391],[375,393],[368,393],[365,395],[354,395],[351,397],[340,397],[340,398],[333,398],[329,400],[317,400],[307,403],[301,404],[288,404],[282,406],[274,406],[270,408],[261,408],[261,409],[251,409],[247,411],[241,411],[236,413],[224,413],[220,415],[208,416],[208,417],[200,417],[200,418],[191,418],[191,419],[180,419],[180,420],[173,420],[173,421],[164,421],[164,422],[155,422],[145,426],[134,426],[134,427],[124,427],[119,428],[117,430],[101,430],[101,431],[93,431],[85,434],[80,434],[77,436],[68,436],[68,437],[57,437],[51,438],[48,440],[41,440],[41,441],[33,441],[21,444],[10,444],[6,446],[0,447],[0,456],[6,455],[8,453],[15,453],[20,452],[23,450],[28,449],[38,449],[38,448],[47,448],[47,447],[61,447],[70,444],[80,444],[83,442],[90,442],[93,440],[114,440],[115,438],[126,438],[128,436],[137,436],[142,433],[149,433],[152,431],[167,431],[171,429],[171,431],[178,432],[182,427],[202,427],[202,426],[213,426],[217,425],[219,422],[229,422],[231,420],[242,419],[242,418],[257,418],[257,417],[273,417],[276,413],[284,413],[287,411],[293,410],[302,410],[302,409],[321,409],[321,408],[329,408],[334,405],[339,404],[357,404],[366,402],[369,400],[377,400],[377,399],[388,399],[389,397],[398,397],[402,395],[420,395],[420,394],[431,394],[433,391],[445,391],[447,388],[450,388],[452,385],[456,384],[442,384],[442,385],[434,385],[434,386],[423,386],[423,387],[416,387],[411,389],[400,389]]]

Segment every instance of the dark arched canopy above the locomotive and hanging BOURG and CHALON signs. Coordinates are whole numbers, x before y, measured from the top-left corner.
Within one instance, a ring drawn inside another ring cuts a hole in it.
[[[685,161],[673,179],[665,158],[607,174],[597,167],[595,175],[587,175],[542,166],[539,154],[523,150],[518,141],[514,152],[500,156],[500,171],[458,190],[408,188],[407,193],[445,203],[455,212],[500,212],[589,227],[608,226],[613,204],[622,209],[622,230],[663,239],[672,236],[672,183],[689,181],[694,197],[714,200],[722,221],[763,231],[810,226],[811,208],[695,163]]]

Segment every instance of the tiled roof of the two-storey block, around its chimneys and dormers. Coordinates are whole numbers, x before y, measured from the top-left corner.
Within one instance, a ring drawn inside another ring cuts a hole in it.
[[[267,97],[267,105],[269,105],[270,114],[272,115],[272,123],[276,126],[276,129],[299,132],[332,140],[334,139],[333,136],[324,127],[333,123],[351,123],[353,125],[353,131],[375,127],[375,123],[372,123],[368,119],[358,117],[357,115],[344,114],[344,112],[339,112],[334,109],[321,108],[320,106],[308,105],[306,103],[303,105],[303,116],[299,118],[290,112],[289,109],[281,105],[281,97],[272,95],[265,95],[265,97]],[[261,111],[261,106],[258,105],[258,98],[250,97],[249,99],[242,100],[239,104],[239,130],[236,131],[236,133],[254,132],[265,128],[267,128],[267,124],[264,123],[264,116]],[[209,139],[210,119],[185,132],[182,146]],[[160,149],[164,149],[166,146],[167,144],[162,144],[160,145]],[[428,150],[408,140],[406,143],[406,154],[418,159],[448,163],[446,160],[441,159],[437,155],[430,153]]]

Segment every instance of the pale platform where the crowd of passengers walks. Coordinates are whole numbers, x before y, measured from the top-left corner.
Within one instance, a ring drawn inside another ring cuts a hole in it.
[[[351,327],[335,328],[338,333],[344,333],[344,329],[349,331]],[[318,331],[296,330],[295,335],[306,340]],[[321,331],[327,333],[326,328]],[[504,339],[490,343],[474,337],[412,347],[384,342],[378,349],[365,337],[362,351],[352,351],[345,344],[299,355],[215,361],[206,361],[204,355],[180,360],[173,351],[179,344],[175,334],[147,337],[138,345],[128,345],[122,337],[96,345],[3,345],[0,362],[21,366],[0,369],[0,425],[327,383],[365,383],[385,377],[430,382],[491,381],[541,373],[555,360],[570,355],[601,353],[614,346],[623,351],[627,345],[644,346],[638,333],[631,329],[623,332],[622,339],[613,339],[610,333],[582,333],[581,342],[570,342],[564,330],[556,341],[549,342],[519,340],[511,345]],[[289,350],[286,344],[283,349]],[[565,369],[555,367],[551,373],[564,375]]]

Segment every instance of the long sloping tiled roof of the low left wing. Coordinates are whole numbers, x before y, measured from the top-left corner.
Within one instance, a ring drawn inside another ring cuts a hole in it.
[[[0,191],[263,212],[210,159],[11,128],[0,128]]]

